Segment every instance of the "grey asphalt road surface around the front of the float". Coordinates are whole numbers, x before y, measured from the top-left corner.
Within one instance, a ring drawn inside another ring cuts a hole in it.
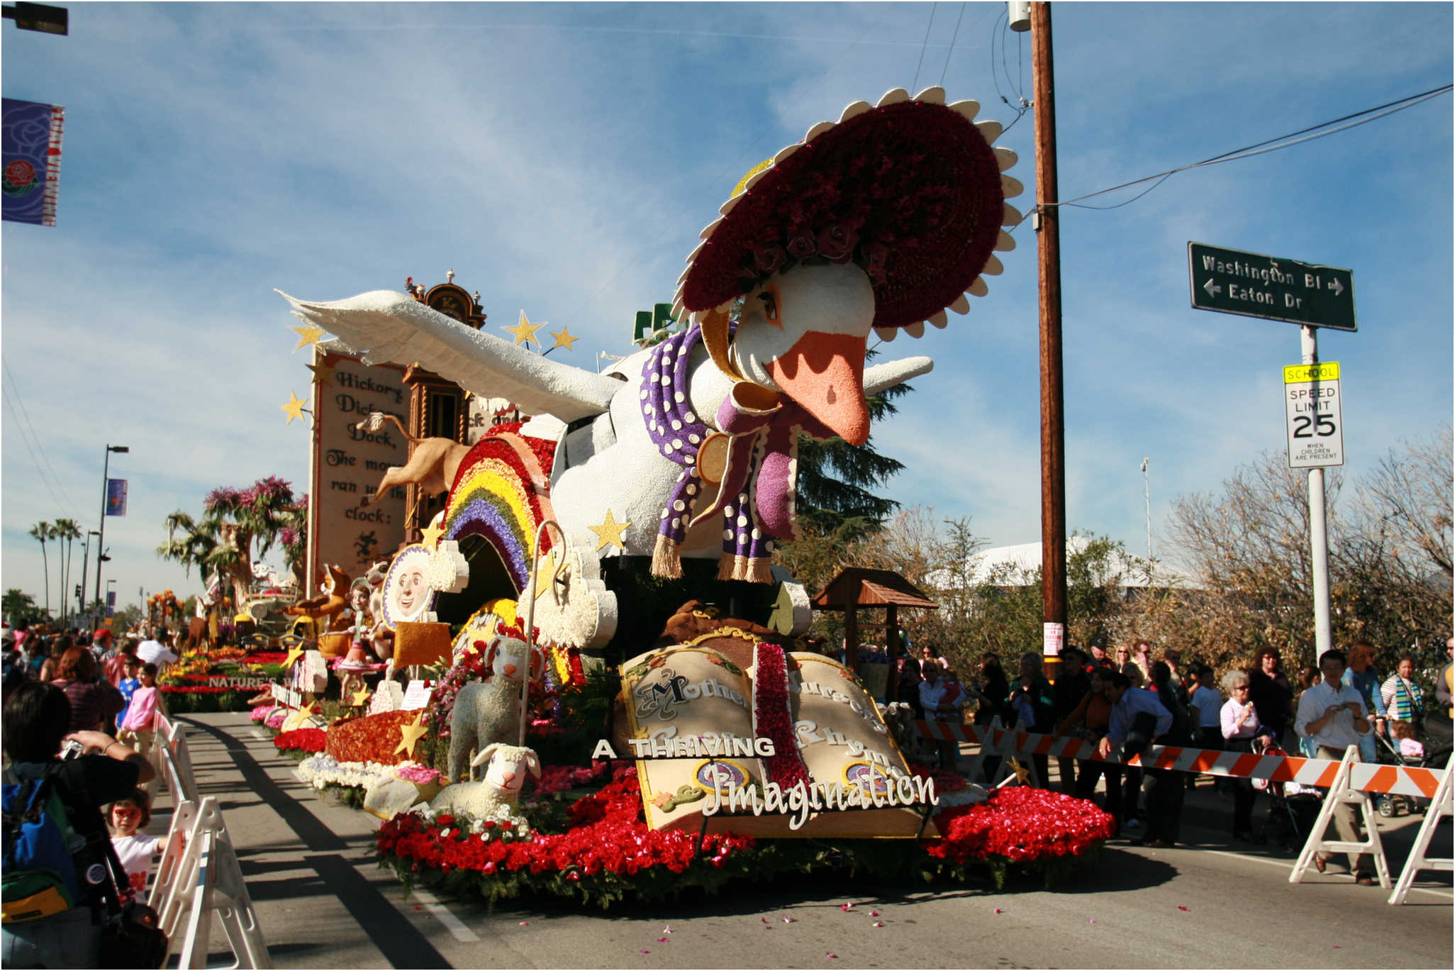
[[[220,798],[279,968],[1449,968],[1449,873],[1404,907],[1346,875],[1291,885],[1292,855],[1231,844],[1231,804],[1199,788],[1184,846],[1113,841],[1052,891],[1017,884],[778,882],[611,916],[439,901],[374,860],[374,817],[320,798],[244,713],[180,719],[204,795]],[[160,805],[167,805],[163,798]],[[1261,821],[1266,804],[1254,809]],[[1420,817],[1381,821],[1391,872]],[[162,814],[154,828],[166,825]],[[1451,827],[1432,850],[1451,855]],[[850,910],[842,904],[853,903]],[[877,914],[874,914],[877,911]],[[874,923],[882,923],[876,927]],[[668,930],[669,929],[669,930]],[[665,940],[662,940],[665,938]],[[212,932],[214,962],[224,939]]]

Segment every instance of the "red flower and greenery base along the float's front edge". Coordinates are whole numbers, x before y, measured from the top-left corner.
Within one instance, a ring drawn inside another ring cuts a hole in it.
[[[966,795],[970,788],[962,786]],[[978,796],[978,793],[976,793]],[[943,809],[944,837],[904,840],[771,840],[649,830],[631,769],[569,809],[565,833],[535,833],[509,841],[464,831],[463,815],[406,812],[378,831],[380,860],[406,887],[425,885],[490,903],[519,895],[565,897],[598,907],[626,898],[675,898],[685,888],[716,892],[735,879],[761,884],[778,873],[896,878],[927,882],[994,881],[1011,872],[1039,873],[1049,887],[1096,860],[1112,836],[1112,817],[1093,802],[1030,788],[1004,788],[988,798]]]

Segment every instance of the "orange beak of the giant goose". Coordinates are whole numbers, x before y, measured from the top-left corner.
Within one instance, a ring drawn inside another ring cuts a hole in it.
[[[774,384],[851,445],[869,441],[864,341],[809,330],[768,364]]]

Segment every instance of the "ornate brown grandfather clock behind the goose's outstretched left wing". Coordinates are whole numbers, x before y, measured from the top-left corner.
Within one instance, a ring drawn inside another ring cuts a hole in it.
[[[486,314],[480,307],[479,291],[470,294],[455,284],[453,269],[445,274],[445,282],[435,284],[428,291],[422,284],[416,284],[413,277],[404,281],[404,290],[431,310],[438,310],[476,330],[485,325]],[[409,389],[409,434],[413,438],[453,438],[461,444],[466,441],[469,422],[464,389],[418,364],[404,368],[404,387]],[[404,518],[404,543],[420,542],[423,527],[445,508],[442,494],[431,496],[420,492],[418,485],[406,489],[404,508],[409,512]]]

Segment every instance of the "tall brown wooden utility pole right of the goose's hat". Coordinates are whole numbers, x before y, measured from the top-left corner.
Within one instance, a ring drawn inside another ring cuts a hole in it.
[[[1067,435],[1061,390],[1061,213],[1056,202],[1056,96],[1051,4],[1030,4],[1032,98],[1036,112],[1036,239],[1040,288],[1040,598],[1043,652],[1067,632]],[[1052,625],[1059,625],[1055,627]],[[1055,645],[1052,648],[1052,645]],[[1049,659],[1049,658],[1048,658]]]

